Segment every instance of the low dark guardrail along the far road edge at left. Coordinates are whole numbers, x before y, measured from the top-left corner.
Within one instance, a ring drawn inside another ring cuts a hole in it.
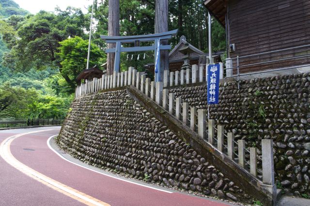
[[[25,120],[5,120],[0,121],[0,127],[18,127],[18,126],[45,126],[45,125],[61,125],[63,119],[25,119]]]

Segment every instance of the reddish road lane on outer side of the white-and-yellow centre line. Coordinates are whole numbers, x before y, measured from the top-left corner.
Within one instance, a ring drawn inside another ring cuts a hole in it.
[[[30,129],[0,131],[0,143],[9,136],[30,131]],[[0,206],[36,205],[78,206],[83,204],[24,175],[0,157]]]

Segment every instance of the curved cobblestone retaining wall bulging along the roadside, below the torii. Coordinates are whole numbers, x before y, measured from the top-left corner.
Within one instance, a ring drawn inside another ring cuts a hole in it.
[[[163,186],[252,200],[125,89],[84,96],[71,107],[57,143],[73,157]]]

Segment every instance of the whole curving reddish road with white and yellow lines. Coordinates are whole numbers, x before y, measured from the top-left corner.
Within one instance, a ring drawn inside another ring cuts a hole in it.
[[[48,145],[53,142],[48,139],[59,131],[60,127],[0,131],[1,206],[230,205],[118,177],[88,166]]]

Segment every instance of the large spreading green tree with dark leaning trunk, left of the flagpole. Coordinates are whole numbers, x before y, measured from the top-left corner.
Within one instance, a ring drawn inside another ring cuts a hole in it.
[[[18,40],[8,59],[22,71],[31,68],[58,68],[65,81],[74,89],[75,84],[70,77],[62,73],[62,65],[56,53],[59,42],[68,37],[85,36],[86,25],[87,21],[81,10],[72,7],[65,11],[57,8],[56,14],[40,11],[36,15],[28,15],[17,29]]]

